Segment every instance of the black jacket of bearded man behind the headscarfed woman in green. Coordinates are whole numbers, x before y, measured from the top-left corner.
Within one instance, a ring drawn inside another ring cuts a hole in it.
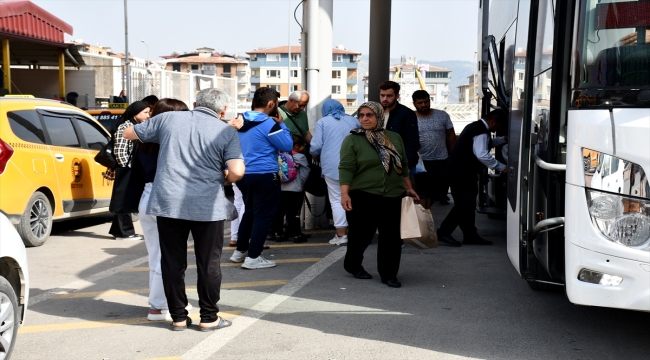
[[[388,124],[384,124],[384,127],[402,137],[408,166],[414,167],[418,163],[418,150],[420,149],[420,131],[415,111],[397,103],[397,106],[390,111]]]

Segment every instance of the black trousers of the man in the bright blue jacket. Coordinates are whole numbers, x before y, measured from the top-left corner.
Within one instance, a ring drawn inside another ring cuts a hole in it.
[[[237,182],[237,187],[246,206],[239,223],[237,251],[248,251],[248,257],[255,259],[262,254],[266,235],[278,209],[280,176],[277,172],[247,174]]]

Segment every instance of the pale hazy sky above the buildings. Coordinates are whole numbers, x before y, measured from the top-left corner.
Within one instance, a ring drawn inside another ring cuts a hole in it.
[[[380,1],[380,0],[375,0]],[[66,40],[124,52],[123,0],[32,0],[72,25]],[[244,55],[260,47],[299,45],[293,10],[300,0],[128,0],[129,52],[152,61],[211,47]],[[393,0],[391,57],[474,59],[478,0]],[[302,6],[297,17],[302,22]],[[370,0],[334,0],[333,46],[368,54]],[[143,43],[142,40],[145,42]]]

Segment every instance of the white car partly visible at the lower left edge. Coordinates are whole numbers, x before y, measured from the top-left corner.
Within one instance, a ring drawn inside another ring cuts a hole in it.
[[[28,299],[25,245],[9,219],[0,213],[0,359],[11,357]]]

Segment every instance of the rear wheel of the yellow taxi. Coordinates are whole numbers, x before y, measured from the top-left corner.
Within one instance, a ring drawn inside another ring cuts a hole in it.
[[[37,191],[27,203],[18,225],[18,233],[25,246],[41,246],[52,231],[52,205],[42,192]]]

